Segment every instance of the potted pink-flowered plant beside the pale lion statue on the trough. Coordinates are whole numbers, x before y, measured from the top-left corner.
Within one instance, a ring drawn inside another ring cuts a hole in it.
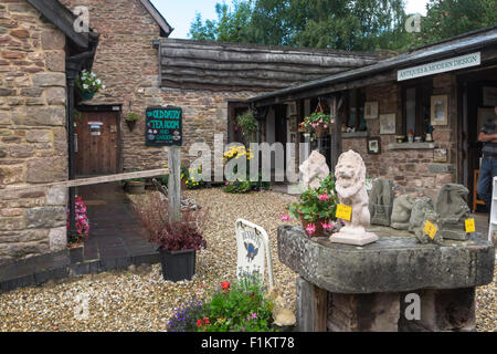
[[[327,198],[324,198],[327,196]],[[298,202],[288,206],[289,215],[299,220],[304,217],[309,222],[318,220],[335,221],[337,212],[337,194],[335,190],[335,176],[328,175],[316,189],[304,191]]]

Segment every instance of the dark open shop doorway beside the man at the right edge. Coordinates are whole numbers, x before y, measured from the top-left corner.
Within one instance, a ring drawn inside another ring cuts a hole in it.
[[[483,144],[478,143],[478,134],[488,119],[496,118],[497,67],[459,75],[458,87],[463,165],[459,178],[469,189],[470,208],[474,211],[488,211],[476,192],[483,148]]]

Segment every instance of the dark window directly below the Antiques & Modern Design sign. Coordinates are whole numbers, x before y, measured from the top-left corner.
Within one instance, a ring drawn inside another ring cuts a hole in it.
[[[423,136],[430,127],[430,104],[433,92],[432,82],[405,86],[403,88],[403,131],[414,136]]]

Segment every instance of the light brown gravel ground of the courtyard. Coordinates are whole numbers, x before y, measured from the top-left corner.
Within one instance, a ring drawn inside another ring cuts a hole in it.
[[[193,294],[234,275],[234,222],[245,218],[268,232],[276,288],[295,310],[295,277],[277,258],[278,216],[294,197],[277,192],[228,195],[220,189],[187,192],[208,208],[208,250],[191,282],[170,283],[159,264],[47,283],[0,294],[0,331],[166,331],[173,309]],[[285,222],[287,223],[287,222]],[[497,274],[496,274],[497,275]],[[497,279],[495,277],[494,279]],[[477,291],[477,330],[497,330],[496,283]]]

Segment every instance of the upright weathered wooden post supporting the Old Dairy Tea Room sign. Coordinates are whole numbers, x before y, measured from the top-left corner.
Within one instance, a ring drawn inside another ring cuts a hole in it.
[[[181,147],[169,147],[169,222],[181,221]]]

